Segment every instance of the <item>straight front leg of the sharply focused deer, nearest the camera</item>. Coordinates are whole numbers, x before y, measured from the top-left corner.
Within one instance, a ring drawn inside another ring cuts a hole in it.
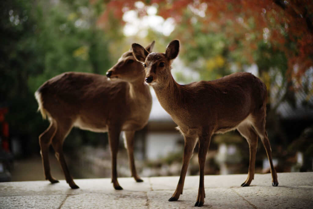
[[[199,181],[199,190],[198,197],[195,207],[201,207],[204,203],[205,191],[204,191],[204,165],[205,159],[207,156],[208,148],[210,145],[211,134],[209,137],[202,136],[199,137],[199,152],[198,152],[198,161],[199,161],[199,170],[200,170],[200,181]]]

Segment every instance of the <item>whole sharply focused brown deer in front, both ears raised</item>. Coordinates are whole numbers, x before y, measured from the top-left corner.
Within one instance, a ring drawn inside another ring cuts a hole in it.
[[[179,52],[178,40],[169,43],[165,53],[150,53],[139,44],[132,44],[132,49],[136,60],[144,63],[146,83],[152,86],[161,106],[177,123],[177,129],[185,140],[180,179],[169,201],[177,201],[182,194],[187,167],[198,141],[200,182],[195,206],[203,205],[204,163],[211,137],[214,133],[234,129],[247,139],[250,149],[248,178],[241,186],[249,186],[254,178],[258,135],[269,159],[272,185],[278,185],[265,131],[267,91],[259,78],[251,73],[239,72],[214,81],[179,85],[171,74],[171,62]]]

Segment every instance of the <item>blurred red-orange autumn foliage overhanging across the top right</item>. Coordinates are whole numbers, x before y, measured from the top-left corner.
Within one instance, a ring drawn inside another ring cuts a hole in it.
[[[99,21],[105,23],[112,15],[123,24],[123,12],[136,9],[139,15],[146,15],[146,8],[135,7],[136,1],[110,1]],[[284,52],[287,58],[286,76],[299,77],[313,66],[313,3],[309,0],[240,0],[240,1],[143,1],[156,4],[158,15],[173,17],[177,25],[184,25],[184,33],[175,34],[184,44],[194,43],[194,34],[223,33],[227,39],[227,50],[240,49],[245,61],[255,62],[252,51],[263,41],[275,51]],[[197,23],[201,24],[197,24]],[[196,25],[196,26],[194,26]],[[190,43],[191,42],[191,43]],[[204,54],[206,55],[206,54]],[[294,71],[297,66],[298,71]]]

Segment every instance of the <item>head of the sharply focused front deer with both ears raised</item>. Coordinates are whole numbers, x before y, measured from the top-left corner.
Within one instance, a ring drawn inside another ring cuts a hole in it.
[[[131,47],[136,60],[143,63],[145,67],[146,83],[154,88],[167,86],[169,78],[172,77],[172,60],[179,52],[179,41],[173,40],[169,43],[164,53],[150,53],[139,44],[132,44]]]

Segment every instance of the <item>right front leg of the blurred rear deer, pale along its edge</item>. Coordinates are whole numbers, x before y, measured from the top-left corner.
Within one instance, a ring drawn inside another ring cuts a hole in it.
[[[135,131],[125,131],[125,145],[128,153],[128,159],[129,159],[129,167],[131,170],[131,176],[134,177],[134,179],[137,182],[142,182],[143,180],[138,176],[136,167],[135,167],[135,159],[134,159],[134,136]]]

